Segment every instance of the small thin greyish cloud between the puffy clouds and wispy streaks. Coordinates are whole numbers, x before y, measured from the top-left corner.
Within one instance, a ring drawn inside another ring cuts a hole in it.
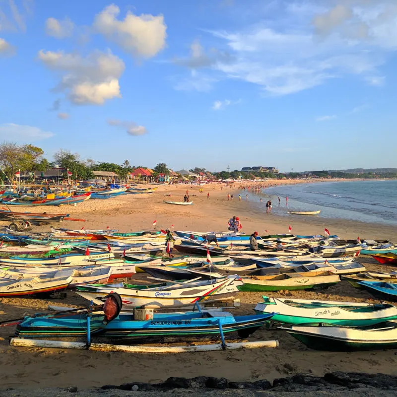
[[[228,63],[232,57],[228,52],[221,52],[211,48],[208,54],[198,40],[195,40],[190,46],[190,56],[185,58],[174,58],[173,62],[180,66],[186,66],[192,69],[200,67],[213,66],[218,62]]]

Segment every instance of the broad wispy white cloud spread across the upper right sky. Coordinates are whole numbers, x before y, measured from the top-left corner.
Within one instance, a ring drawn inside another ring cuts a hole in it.
[[[229,49],[227,61],[211,57],[195,42],[191,54],[176,62],[205,68],[208,79],[243,80],[271,95],[293,94],[352,75],[373,85],[385,83],[376,76],[397,51],[396,0],[307,0],[297,2],[301,7],[273,3],[275,17],[262,15],[236,31],[209,31],[223,49],[218,54]],[[195,89],[195,80],[186,77],[177,85],[181,87]]]

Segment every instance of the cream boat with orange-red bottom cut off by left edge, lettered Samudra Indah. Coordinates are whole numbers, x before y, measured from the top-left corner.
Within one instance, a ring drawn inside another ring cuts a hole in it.
[[[21,296],[62,291],[67,288],[72,279],[71,276],[58,278],[30,277],[20,280],[1,279],[0,296]]]

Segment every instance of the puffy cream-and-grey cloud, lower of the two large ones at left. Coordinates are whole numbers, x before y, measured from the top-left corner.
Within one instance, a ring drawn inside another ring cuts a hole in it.
[[[95,51],[87,57],[63,51],[39,51],[39,60],[61,75],[56,88],[66,91],[77,105],[103,105],[106,100],[120,98],[119,78],[124,62],[111,51]]]

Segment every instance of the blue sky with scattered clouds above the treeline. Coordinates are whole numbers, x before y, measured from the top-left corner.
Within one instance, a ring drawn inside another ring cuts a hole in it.
[[[396,0],[0,0],[0,141],[51,161],[397,167]]]

